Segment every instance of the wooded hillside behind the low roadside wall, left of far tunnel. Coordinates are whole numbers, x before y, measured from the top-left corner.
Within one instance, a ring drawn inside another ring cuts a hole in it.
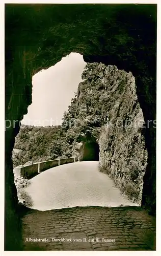
[[[22,150],[22,153],[13,153],[14,167],[28,161],[38,162],[61,157],[64,154],[64,137],[61,126],[21,126],[15,139],[15,148]]]

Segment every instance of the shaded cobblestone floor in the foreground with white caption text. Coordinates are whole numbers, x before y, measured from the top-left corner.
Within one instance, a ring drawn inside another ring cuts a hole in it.
[[[22,228],[24,250],[155,250],[155,217],[135,206],[29,209]]]

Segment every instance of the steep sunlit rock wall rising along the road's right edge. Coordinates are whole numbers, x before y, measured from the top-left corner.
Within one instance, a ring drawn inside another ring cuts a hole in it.
[[[107,67],[104,77],[111,83],[106,92],[107,122],[99,139],[100,170],[109,174],[128,198],[141,204],[147,166],[144,117],[138,102],[135,78],[130,72],[111,68]]]

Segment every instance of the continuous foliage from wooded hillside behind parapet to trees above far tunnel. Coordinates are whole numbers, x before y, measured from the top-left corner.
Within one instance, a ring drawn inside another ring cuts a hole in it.
[[[60,157],[71,157],[79,152],[77,144],[84,141],[99,141],[101,127],[106,123],[109,93],[117,70],[102,63],[87,63],[77,93],[71,99],[68,111],[64,112],[62,126],[21,126],[15,140],[15,148],[21,154],[13,154],[14,166],[29,161],[46,161]],[[105,79],[107,76],[107,79]],[[75,150],[76,148],[76,150]]]

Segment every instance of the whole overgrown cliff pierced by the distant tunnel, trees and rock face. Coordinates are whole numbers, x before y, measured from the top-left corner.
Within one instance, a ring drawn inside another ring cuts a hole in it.
[[[71,150],[81,160],[99,159],[100,171],[109,174],[128,198],[140,203],[147,150],[135,78],[102,63],[88,63],[82,78],[64,114]]]

